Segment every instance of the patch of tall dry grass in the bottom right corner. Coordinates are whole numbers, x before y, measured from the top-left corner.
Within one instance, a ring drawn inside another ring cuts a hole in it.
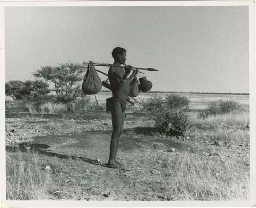
[[[169,158],[165,200],[248,200],[249,167],[225,157]],[[166,177],[165,176],[165,177]],[[164,177],[163,177],[164,178]]]

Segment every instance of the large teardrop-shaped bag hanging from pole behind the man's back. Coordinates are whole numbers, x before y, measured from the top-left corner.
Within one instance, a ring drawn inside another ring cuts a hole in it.
[[[94,68],[93,62],[90,61],[89,65],[83,79],[82,91],[85,94],[92,95],[98,93],[102,89],[102,82]]]

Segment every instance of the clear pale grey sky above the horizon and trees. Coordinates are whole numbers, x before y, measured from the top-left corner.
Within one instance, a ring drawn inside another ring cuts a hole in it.
[[[152,91],[248,93],[248,34],[247,6],[6,7],[5,81],[33,80],[46,65],[113,63],[120,46],[127,64],[159,70],[145,71]]]

